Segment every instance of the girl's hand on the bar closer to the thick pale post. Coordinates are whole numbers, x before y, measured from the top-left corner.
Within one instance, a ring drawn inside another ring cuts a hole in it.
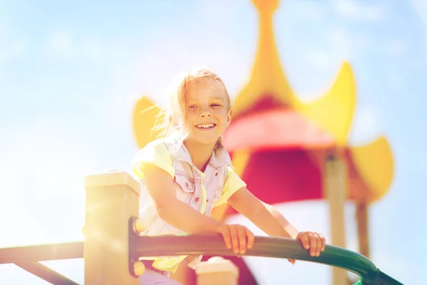
[[[240,224],[222,224],[218,232],[223,236],[228,249],[233,249],[235,254],[245,254],[246,249],[253,247],[253,233]]]

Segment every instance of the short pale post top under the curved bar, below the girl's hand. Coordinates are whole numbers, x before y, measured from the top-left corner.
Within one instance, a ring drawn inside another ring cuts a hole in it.
[[[197,285],[238,285],[238,267],[222,257],[200,262],[196,274]]]

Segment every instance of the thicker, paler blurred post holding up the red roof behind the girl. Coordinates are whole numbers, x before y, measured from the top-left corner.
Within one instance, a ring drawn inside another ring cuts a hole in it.
[[[330,203],[331,244],[346,247],[344,206],[347,198],[347,165],[337,153],[328,155],[325,162],[324,183]],[[334,285],[348,284],[347,271],[333,267]]]

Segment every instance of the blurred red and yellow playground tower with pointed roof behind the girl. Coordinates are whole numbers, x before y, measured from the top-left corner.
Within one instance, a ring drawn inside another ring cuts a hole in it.
[[[258,49],[251,77],[233,104],[233,119],[223,137],[236,172],[255,196],[268,204],[326,199],[330,205],[332,244],[346,247],[344,204],[354,202],[359,253],[369,258],[368,207],[384,197],[393,179],[393,157],[386,138],[352,146],[347,137],[356,105],[356,84],[343,63],[332,87],[321,98],[303,103],[292,92],[280,63],[273,33],[279,0],[252,0],[258,11]],[[162,113],[149,98],[134,111],[139,147],[159,135],[153,131]],[[256,173],[256,175],[254,175]],[[264,181],[268,180],[268,190]],[[212,214],[226,220],[228,204]],[[240,269],[249,272],[238,259]],[[347,272],[334,270],[334,285],[346,284]]]

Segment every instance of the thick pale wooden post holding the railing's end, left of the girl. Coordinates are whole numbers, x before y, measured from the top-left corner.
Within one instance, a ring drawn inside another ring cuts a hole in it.
[[[138,285],[130,274],[128,223],[138,217],[139,183],[127,172],[107,172],[85,177],[85,190],[85,284]]]

